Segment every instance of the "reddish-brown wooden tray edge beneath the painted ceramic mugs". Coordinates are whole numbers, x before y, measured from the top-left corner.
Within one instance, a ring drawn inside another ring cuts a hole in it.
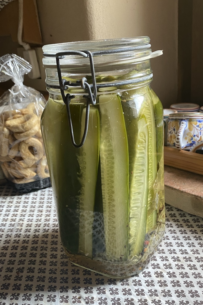
[[[203,155],[164,146],[164,165],[203,175]]]

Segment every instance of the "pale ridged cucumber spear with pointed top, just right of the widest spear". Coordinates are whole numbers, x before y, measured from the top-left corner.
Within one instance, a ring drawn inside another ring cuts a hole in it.
[[[129,183],[129,258],[141,255],[144,247],[148,181],[149,181],[149,131],[145,117],[137,124],[135,157]]]

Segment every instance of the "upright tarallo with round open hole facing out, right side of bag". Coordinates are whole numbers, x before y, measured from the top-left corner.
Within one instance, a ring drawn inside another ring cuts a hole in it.
[[[33,147],[34,155],[30,152],[29,147]],[[26,163],[31,167],[36,161],[39,161],[44,155],[44,149],[42,143],[36,138],[30,138],[20,143],[20,154],[23,161],[19,161],[19,164]]]

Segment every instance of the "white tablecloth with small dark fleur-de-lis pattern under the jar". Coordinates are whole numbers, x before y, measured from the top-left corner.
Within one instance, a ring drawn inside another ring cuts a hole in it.
[[[149,267],[117,280],[68,261],[51,188],[0,192],[0,305],[203,304],[201,217],[166,206],[166,234]]]

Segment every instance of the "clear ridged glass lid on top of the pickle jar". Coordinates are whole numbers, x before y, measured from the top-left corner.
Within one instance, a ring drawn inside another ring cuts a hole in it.
[[[59,52],[67,51],[85,51],[93,53],[94,63],[96,65],[110,64],[114,65],[118,61],[126,63],[134,62],[135,59],[142,60],[142,57],[150,56],[152,53],[150,38],[148,36],[139,36],[131,38],[103,39],[95,41],[75,41],[44,45],[43,64],[46,66],[55,66],[55,55]],[[112,52],[112,51],[116,52]],[[99,54],[105,51],[105,54]],[[94,54],[97,53],[97,54]],[[50,57],[51,55],[51,57]],[[82,56],[66,55],[61,59],[61,65],[86,65],[87,60]]]

